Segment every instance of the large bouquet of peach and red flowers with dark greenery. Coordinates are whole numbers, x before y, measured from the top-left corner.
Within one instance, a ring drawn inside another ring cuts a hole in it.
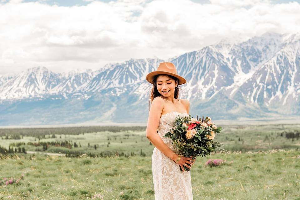
[[[202,120],[197,118],[191,118],[191,114],[188,117],[175,118],[175,124],[171,132],[167,132],[163,137],[171,138],[172,144],[177,153],[184,157],[189,156],[207,156],[213,151],[216,153],[216,148],[223,145],[217,141],[213,141],[215,135],[220,133],[222,127],[217,127],[210,117],[202,116]],[[182,171],[182,168],[180,168]],[[185,171],[189,171],[189,168],[184,166]]]

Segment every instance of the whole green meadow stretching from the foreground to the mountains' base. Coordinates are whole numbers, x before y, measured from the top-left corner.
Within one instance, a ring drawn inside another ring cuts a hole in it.
[[[215,139],[227,151],[199,157],[192,167],[195,200],[300,200],[300,125],[222,127]],[[3,148],[68,153],[68,157],[38,153],[2,155],[0,199],[154,199],[154,146],[145,137],[145,128],[92,131],[0,129]],[[63,141],[72,146],[61,146]],[[210,168],[205,166],[208,159],[226,162]],[[22,178],[6,185],[4,178],[11,177]]]

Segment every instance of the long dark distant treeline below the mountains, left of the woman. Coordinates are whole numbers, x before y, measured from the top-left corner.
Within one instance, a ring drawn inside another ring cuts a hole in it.
[[[101,131],[121,132],[121,131],[144,131],[146,127],[119,127],[119,126],[90,126],[90,127],[61,127],[61,128],[1,128],[0,137],[10,136],[12,139],[20,137],[16,136],[32,136],[38,138],[45,135],[63,134],[63,135],[79,135],[82,133],[94,133]],[[21,139],[21,138],[20,138]]]

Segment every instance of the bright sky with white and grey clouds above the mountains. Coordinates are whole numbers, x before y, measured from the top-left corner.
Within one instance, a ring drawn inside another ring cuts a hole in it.
[[[168,59],[222,38],[300,32],[300,1],[0,0],[0,74]]]

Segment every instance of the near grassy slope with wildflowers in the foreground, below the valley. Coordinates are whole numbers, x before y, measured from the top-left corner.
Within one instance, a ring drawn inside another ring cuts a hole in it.
[[[154,199],[151,157],[65,158],[22,155],[0,163],[0,199]],[[300,199],[300,151],[222,153],[197,158],[191,170],[194,199]],[[209,158],[227,164],[208,168]],[[232,161],[232,163],[231,163]],[[120,195],[123,192],[123,195]]]

